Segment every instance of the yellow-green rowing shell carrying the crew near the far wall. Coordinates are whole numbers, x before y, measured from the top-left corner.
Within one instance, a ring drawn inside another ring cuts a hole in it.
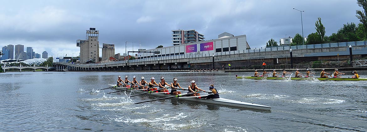
[[[283,80],[284,78],[277,78],[277,77],[256,77],[256,76],[237,76],[238,79],[255,79],[255,80],[272,80],[272,79],[277,79],[277,80]],[[285,78],[289,78],[289,77],[285,77]],[[301,78],[295,78],[295,77],[291,77],[291,80],[297,80],[297,79],[301,79]],[[333,81],[367,81],[367,78],[316,78],[316,77],[309,77],[309,78],[302,78],[301,80],[307,80],[307,79],[318,79],[320,81],[322,80],[333,80]]]

